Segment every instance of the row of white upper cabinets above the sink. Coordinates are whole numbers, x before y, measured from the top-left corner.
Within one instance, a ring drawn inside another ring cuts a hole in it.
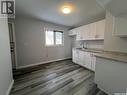
[[[101,20],[70,30],[70,34],[75,34],[76,40],[104,40],[104,31],[105,20]]]

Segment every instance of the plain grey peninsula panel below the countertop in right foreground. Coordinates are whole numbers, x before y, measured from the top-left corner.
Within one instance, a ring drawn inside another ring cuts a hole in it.
[[[127,95],[127,63],[97,57],[95,83],[108,95]]]

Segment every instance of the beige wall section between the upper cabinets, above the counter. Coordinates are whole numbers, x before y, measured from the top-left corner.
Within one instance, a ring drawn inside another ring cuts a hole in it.
[[[108,51],[124,52],[127,53],[127,39],[115,37],[113,33],[113,16],[110,12],[106,12],[106,31],[104,49]]]

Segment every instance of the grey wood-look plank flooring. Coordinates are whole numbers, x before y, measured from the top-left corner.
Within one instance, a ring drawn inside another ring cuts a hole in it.
[[[10,95],[106,95],[94,83],[94,73],[71,60],[16,70],[14,78]]]

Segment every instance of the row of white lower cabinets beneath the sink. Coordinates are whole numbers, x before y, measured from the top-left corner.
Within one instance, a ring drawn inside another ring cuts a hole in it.
[[[95,71],[96,57],[91,52],[85,52],[78,49],[73,49],[73,62],[86,67],[92,71]]]

